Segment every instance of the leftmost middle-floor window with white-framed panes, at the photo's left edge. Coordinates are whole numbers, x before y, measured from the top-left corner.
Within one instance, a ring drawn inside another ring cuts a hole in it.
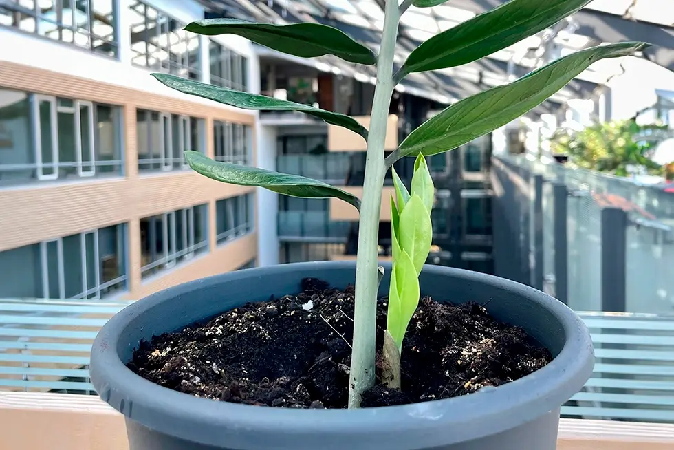
[[[122,173],[120,109],[0,89],[0,186]]]

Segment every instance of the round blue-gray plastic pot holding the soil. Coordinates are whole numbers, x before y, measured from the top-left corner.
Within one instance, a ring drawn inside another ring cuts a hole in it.
[[[426,266],[422,294],[455,303],[490,300],[491,314],[523,327],[550,349],[554,361],[468,396],[358,410],[282,409],[196,398],[146,381],[124,365],[133,348],[153,334],[180,330],[247,301],[297,293],[305,277],[344,288],[355,275],[353,262],[241,270],[158,292],[113,317],[91,350],[91,380],[100,397],[126,416],[131,450],[556,447],[559,408],[583,387],[594,365],[587,329],[572,310],[543,292],[477,272]],[[380,294],[388,286],[386,278]]]

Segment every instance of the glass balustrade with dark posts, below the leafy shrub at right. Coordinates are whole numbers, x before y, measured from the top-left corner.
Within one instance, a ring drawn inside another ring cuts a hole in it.
[[[674,313],[674,194],[525,156],[492,163],[496,275],[579,311]]]

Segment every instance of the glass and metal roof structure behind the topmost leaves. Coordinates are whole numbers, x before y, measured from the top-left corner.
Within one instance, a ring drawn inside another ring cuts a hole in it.
[[[343,30],[378,50],[384,23],[384,0],[200,0],[216,14],[244,20],[294,23],[314,21]],[[506,0],[450,0],[433,8],[412,6],[400,23],[395,63],[422,41],[453,28]],[[662,14],[660,14],[662,12]],[[488,87],[508,83],[554,59],[600,43],[648,41],[644,58],[674,70],[674,0],[594,0],[553,28],[501,50],[481,61],[452,69],[412,74],[398,90],[453,103]],[[281,56],[281,54],[279,54]],[[543,105],[551,110],[571,98],[588,98],[598,85],[624,72],[621,59],[594,64]],[[374,82],[373,67],[352,65],[339,58],[315,58],[320,69]]]

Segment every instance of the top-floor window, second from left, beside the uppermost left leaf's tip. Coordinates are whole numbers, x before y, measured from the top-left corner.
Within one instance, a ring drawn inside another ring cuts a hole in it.
[[[131,62],[184,78],[199,79],[199,36],[173,17],[131,1]]]

